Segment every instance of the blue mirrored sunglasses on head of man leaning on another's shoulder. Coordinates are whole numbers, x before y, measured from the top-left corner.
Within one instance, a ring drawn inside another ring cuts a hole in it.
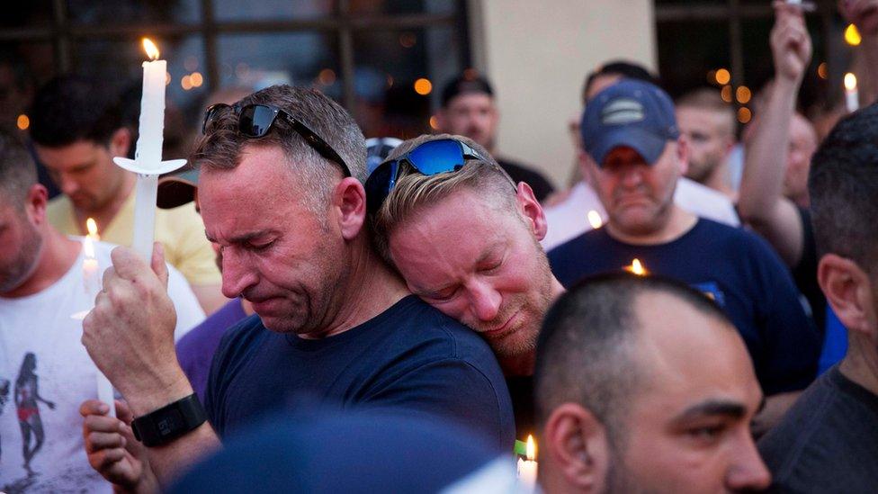
[[[366,209],[374,213],[381,209],[390,191],[399,179],[400,166],[407,163],[421,175],[438,175],[460,170],[467,159],[489,163],[478,151],[457,139],[430,140],[408,153],[381,163],[366,180]]]

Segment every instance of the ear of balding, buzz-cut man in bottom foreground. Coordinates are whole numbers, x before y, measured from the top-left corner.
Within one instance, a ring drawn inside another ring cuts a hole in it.
[[[603,492],[606,489],[606,472],[610,466],[606,429],[581,405],[564,403],[551,412],[543,429],[542,451],[549,455],[545,460],[547,468],[554,471],[552,481],[565,483],[566,489],[561,490]]]

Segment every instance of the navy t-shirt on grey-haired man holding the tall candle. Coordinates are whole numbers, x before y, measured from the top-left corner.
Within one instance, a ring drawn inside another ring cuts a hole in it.
[[[488,345],[415,296],[323,339],[275,333],[256,316],[228,330],[205,400],[220,437],[295,409],[301,397],[309,406],[441,416],[504,451],[515,445],[509,391]]]

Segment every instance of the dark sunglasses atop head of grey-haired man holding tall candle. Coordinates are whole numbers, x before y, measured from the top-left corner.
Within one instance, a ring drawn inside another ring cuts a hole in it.
[[[351,176],[351,169],[347,167],[345,160],[336,153],[332,146],[327,144],[326,140],[318,136],[314,130],[310,130],[304,122],[270,104],[247,104],[246,106],[238,106],[237,104],[231,106],[226,103],[211,104],[207,112],[204,112],[202,134],[206,134],[219,114],[228,109],[231,109],[237,115],[237,131],[250,139],[264,138],[268,135],[269,130],[272,130],[274,121],[280,116],[290,124],[292,130],[295,130],[302,139],[305,139],[305,142],[311,148],[320,153],[320,156],[327,158],[329,161],[335,161],[342,167],[345,176]]]

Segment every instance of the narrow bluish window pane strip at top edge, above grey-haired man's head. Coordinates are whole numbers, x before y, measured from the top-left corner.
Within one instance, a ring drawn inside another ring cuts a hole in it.
[[[333,12],[332,0],[214,0],[218,21],[277,21],[318,19]]]

